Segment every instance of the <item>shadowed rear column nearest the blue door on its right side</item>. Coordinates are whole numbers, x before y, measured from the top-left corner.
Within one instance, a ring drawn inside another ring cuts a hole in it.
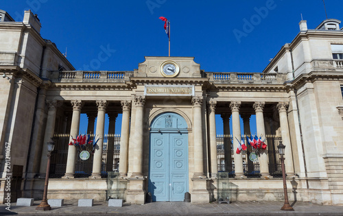
[[[231,156],[231,139],[230,139],[230,114],[224,113],[221,115],[223,119],[224,128],[224,158],[225,158],[225,171],[233,171],[233,162]]]

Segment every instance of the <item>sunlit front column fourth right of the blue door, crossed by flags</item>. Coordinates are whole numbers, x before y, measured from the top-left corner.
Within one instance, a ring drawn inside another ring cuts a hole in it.
[[[255,102],[253,107],[255,108],[256,112],[256,129],[257,129],[257,136],[261,134],[265,136],[265,127],[264,127],[264,119],[263,119],[263,108],[265,102],[259,101]],[[268,145],[265,141],[265,144]],[[269,167],[268,167],[268,154],[267,149],[259,149],[259,166],[260,166],[260,173],[261,177],[271,177],[269,176]]]

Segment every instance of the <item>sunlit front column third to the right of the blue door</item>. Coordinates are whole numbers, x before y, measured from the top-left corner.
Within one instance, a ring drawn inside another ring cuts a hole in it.
[[[239,119],[239,108],[241,101],[231,101],[230,108],[233,115],[233,152],[236,151],[239,143],[241,142],[241,123]],[[236,140],[238,139],[238,141]],[[239,142],[239,143],[238,143]],[[245,178],[243,171],[243,159],[241,154],[233,154],[235,160],[235,176],[237,178]]]

